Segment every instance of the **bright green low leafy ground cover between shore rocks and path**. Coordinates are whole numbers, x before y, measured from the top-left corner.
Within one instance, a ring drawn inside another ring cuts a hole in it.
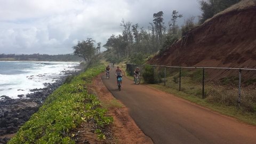
[[[106,109],[101,108],[97,97],[86,89],[104,68],[103,65],[94,66],[69,78],[66,84],[49,95],[8,143],[75,143],[71,130],[89,121],[96,125],[98,138],[105,139],[103,130],[113,123],[113,118],[106,116]]]

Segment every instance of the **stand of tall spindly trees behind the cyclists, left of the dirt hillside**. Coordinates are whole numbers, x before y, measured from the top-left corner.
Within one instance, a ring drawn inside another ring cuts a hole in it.
[[[153,21],[149,22],[150,27],[147,30],[140,28],[138,23],[132,25],[132,22],[122,20],[120,24],[123,27],[122,35],[111,35],[103,45],[107,49],[103,53],[106,61],[142,64],[146,62],[149,55],[159,50],[164,51],[178,41],[181,33],[177,20],[182,17],[182,14],[173,11],[168,30],[164,26],[163,16],[163,11],[154,13]]]

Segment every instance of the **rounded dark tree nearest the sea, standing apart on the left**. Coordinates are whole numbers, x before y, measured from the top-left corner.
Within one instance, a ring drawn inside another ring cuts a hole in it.
[[[90,61],[93,55],[95,55],[96,49],[94,46],[94,40],[87,38],[86,41],[78,41],[76,46],[73,46],[74,54],[82,57],[85,61]]]

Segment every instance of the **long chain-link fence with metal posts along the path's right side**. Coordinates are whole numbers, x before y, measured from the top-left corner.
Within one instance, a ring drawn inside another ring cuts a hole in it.
[[[256,111],[256,69],[127,64],[126,71],[134,75],[137,67],[147,83],[206,98],[208,102]]]

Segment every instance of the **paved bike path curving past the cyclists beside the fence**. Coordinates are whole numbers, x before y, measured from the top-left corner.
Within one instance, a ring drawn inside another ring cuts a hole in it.
[[[102,81],[124,103],[140,129],[154,143],[256,143],[256,126],[239,123],[172,94],[123,77],[121,91],[115,68]]]

